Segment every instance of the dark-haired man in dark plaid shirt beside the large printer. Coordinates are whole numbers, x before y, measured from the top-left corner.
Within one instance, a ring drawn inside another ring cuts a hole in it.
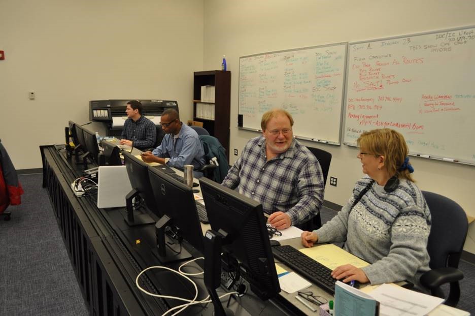
[[[139,101],[127,102],[125,113],[127,119],[124,122],[120,143],[139,149],[147,149],[155,145],[157,128],[147,117],[142,115],[142,103]]]

